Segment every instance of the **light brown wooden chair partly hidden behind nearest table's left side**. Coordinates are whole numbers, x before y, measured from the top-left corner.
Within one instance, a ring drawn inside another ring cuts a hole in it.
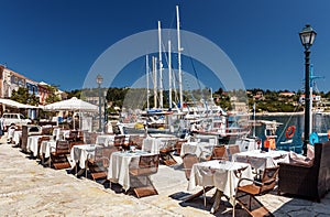
[[[193,165],[195,163],[199,163],[198,158],[196,156],[196,154],[185,154],[183,158],[183,164],[184,164],[184,170],[185,170],[185,174],[186,174],[186,178],[187,181],[190,180],[190,174],[191,174],[191,169]],[[189,202],[196,197],[199,197],[200,195],[204,195],[204,206],[206,207],[206,193],[209,192],[210,189],[212,189],[213,186],[207,186],[207,187],[202,187],[201,191],[197,192],[194,195],[189,195],[187,198],[184,198],[184,202]]]

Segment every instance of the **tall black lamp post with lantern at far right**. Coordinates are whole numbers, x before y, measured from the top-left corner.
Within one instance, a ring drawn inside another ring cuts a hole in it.
[[[309,134],[310,134],[310,63],[309,63],[309,54],[310,46],[314,43],[317,33],[312,30],[309,24],[299,32],[300,41],[302,46],[305,47],[305,130],[304,130],[304,155],[307,154],[307,144],[309,143]]]

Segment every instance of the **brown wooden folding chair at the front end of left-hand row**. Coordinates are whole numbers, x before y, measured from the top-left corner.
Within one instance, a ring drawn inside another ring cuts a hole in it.
[[[131,177],[135,177],[136,180],[140,180],[140,177],[144,177],[146,181],[146,184],[142,184],[141,182],[141,185],[143,186],[134,187],[134,193],[139,198],[158,194],[157,189],[154,187],[152,181],[150,180],[150,175],[158,172],[158,164],[160,154],[141,155],[139,161],[139,167],[130,169]]]

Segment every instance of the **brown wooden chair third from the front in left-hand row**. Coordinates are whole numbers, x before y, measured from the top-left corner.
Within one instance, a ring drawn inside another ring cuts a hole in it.
[[[56,170],[68,169],[70,164],[67,160],[67,154],[70,153],[70,144],[68,141],[58,140],[56,142],[55,152],[51,152],[50,167],[53,166]]]

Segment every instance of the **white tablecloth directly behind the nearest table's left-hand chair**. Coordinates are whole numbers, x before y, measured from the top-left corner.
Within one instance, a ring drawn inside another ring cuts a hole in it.
[[[197,158],[206,160],[212,154],[216,143],[209,142],[185,142],[182,145],[180,156],[196,154]]]

